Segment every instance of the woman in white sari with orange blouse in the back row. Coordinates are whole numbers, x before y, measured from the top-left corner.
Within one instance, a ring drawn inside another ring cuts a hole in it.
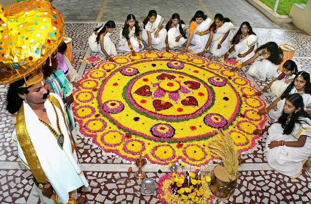
[[[190,21],[189,37],[181,53],[189,50],[192,54],[197,54],[203,51],[209,37],[208,27],[210,23],[211,19],[204,15],[203,11],[196,12]],[[189,46],[190,44],[193,46]]]

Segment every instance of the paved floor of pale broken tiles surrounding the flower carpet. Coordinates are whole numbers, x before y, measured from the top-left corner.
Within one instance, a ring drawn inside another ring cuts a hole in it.
[[[68,2],[67,2],[68,1]],[[74,52],[74,68],[80,75],[85,71],[95,68],[95,65],[86,64],[81,62],[84,57],[89,56],[89,46],[87,39],[92,33],[92,30],[99,24],[96,22],[97,13],[100,11],[104,1],[88,0],[87,5],[84,3],[81,6],[88,8],[90,11],[78,10],[78,4],[73,4],[78,0],[54,0],[55,5],[62,5],[60,8],[64,15],[67,15],[67,22],[76,22],[80,16],[82,21],[89,21],[90,23],[66,23],[66,35],[73,38],[73,52]],[[123,2],[124,1],[124,2]],[[217,2],[222,3],[225,0]],[[66,5],[67,2],[67,6]],[[81,2],[81,1],[79,1]],[[123,13],[118,13],[119,10],[109,13],[117,5],[131,6],[124,8]],[[128,13],[141,13],[141,16],[136,15],[142,19],[145,13],[148,12],[149,7],[145,10],[140,9],[140,5],[145,1],[135,1],[135,3],[127,3],[125,0],[108,1],[104,15],[100,22],[108,20],[108,16],[113,19],[118,19],[117,29],[112,35],[112,40],[115,45],[118,45],[118,33],[121,29],[123,22],[121,15],[126,16]],[[146,1],[148,4],[151,2]],[[164,3],[161,0],[157,2],[155,9],[161,11],[164,18],[168,19],[171,12],[165,13],[165,9],[161,7]],[[167,2],[167,1],[165,1]],[[192,11],[197,9],[204,9],[201,3],[210,10],[211,14],[217,8],[216,1],[210,2],[199,0],[197,3],[184,3],[182,0],[174,1],[177,10],[183,11],[184,7],[178,7],[178,4],[183,6],[190,6]],[[227,2],[227,1],[226,1]],[[239,15],[232,14],[229,16],[235,22],[243,22],[244,18],[255,16],[253,25],[256,27],[254,31],[259,37],[259,43],[264,44],[268,41],[275,41],[278,44],[288,43],[297,48],[294,61],[299,65],[299,68],[311,72],[311,37],[303,34],[297,30],[289,30],[290,26],[286,29],[282,25],[271,23],[262,14],[251,7],[246,1],[237,0],[234,6],[243,6],[245,9],[241,11],[241,15],[248,14],[248,16],[240,17]],[[70,4],[72,3],[72,4]],[[168,2],[171,3],[171,2]],[[214,3],[214,4],[213,4]],[[188,5],[189,4],[189,5]],[[80,5],[80,4],[79,4]],[[157,6],[157,7],[156,7]],[[172,5],[173,6],[173,5]],[[96,7],[96,8],[95,8]],[[135,11],[135,8],[139,8]],[[222,8],[222,7],[220,7]],[[128,9],[128,10],[126,10]],[[223,8],[225,9],[225,8]],[[231,9],[230,9],[231,10]],[[97,13],[95,12],[97,11]],[[135,12],[134,12],[135,11]],[[225,12],[225,10],[223,10]],[[67,12],[67,13],[66,13]],[[223,12],[223,13],[224,13]],[[229,13],[230,11],[226,11]],[[82,18],[82,13],[87,17]],[[89,14],[87,14],[89,13]],[[160,12],[159,12],[160,13]],[[194,12],[193,12],[194,13]],[[74,14],[77,14],[76,16]],[[95,18],[91,18],[95,16]],[[182,15],[184,19],[190,19],[192,14]],[[138,18],[137,17],[137,18]],[[256,22],[256,23],[254,23]],[[258,24],[257,24],[258,23]],[[239,23],[236,23],[239,24]],[[264,27],[264,28],[263,28]],[[205,55],[210,60],[218,61],[218,57],[211,56],[209,53]],[[249,78],[252,84],[257,88],[263,88],[267,85],[266,82],[259,82],[254,80],[251,76],[246,75],[240,71],[243,76]],[[39,198],[35,188],[33,188],[33,181],[31,180],[31,173],[25,169],[17,156],[16,143],[11,140],[11,132],[14,126],[11,124],[11,117],[5,110],[7,86],[0,86],[0,204],[40,204]],[[264,99],[268,102],[270,99],[269,94],[264,95]],[[238,186],[234,192],[234,196],[227,200],[225,203],[245,203],[245,204],[309,204],[311,203],[311,177],[303,171],[303,174],[297,179],[291,180],[289,177],[283,176],[269,167],[263,153],[263,146],[265,139],[259,141],[258,150],[253,154],[244,155],[245,163],[240,166],[240,178]],[[89,199],[88,204],[157,204],[156,193],[153,196],[140,195],[140,185],[133,179],[133,174],[130,176],[132,182],[128,183],[129,174],[127,173],[128,167],[132,166],[133,171],[136,170],[135,165],[130,164],[114,156],[106,156],[96,146],[92,145],[91,141],[85,138],[78,138],[78,151],[80,153],[80,162],[84,172],[89,180],[90,186],[88,189],[82,189],[81,194]],[[213,166],[204,171],[210,171]],[[147,165],[144,170],[147,172],[149,178],[157,179],[162,174],[157,173],[161,169],[162,172],[168,171],[167,167],[160,167],[156,165]]]

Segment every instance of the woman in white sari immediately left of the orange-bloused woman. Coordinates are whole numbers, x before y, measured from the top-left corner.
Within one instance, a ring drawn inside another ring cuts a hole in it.
[[[179,14],[174,13],[165,26],[167,30],[165,39],[166,51],[181,47],[187,41],[186,28],[187,25],[180,20]]]

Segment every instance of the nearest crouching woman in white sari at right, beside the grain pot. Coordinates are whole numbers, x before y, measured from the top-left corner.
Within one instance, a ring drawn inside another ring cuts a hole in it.
[[[267,131],[255,130],[254,134]],[[311,116],[304,111],[303,98],[294,93],[286,97],[278,123],[268,128],[267,162],[277,172],[296,178],[311,166]]]

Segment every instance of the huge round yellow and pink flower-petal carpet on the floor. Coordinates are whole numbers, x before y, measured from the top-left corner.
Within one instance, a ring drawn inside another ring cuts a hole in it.
[[[100,62],[79,81],[73,112],[82,135],[123,159],[139,153],[162,165],[212,163],[206,141],[218,129],[233,133],[239,154],[256,147],[266,104],[248,79],[188,53],[136,54]]]

